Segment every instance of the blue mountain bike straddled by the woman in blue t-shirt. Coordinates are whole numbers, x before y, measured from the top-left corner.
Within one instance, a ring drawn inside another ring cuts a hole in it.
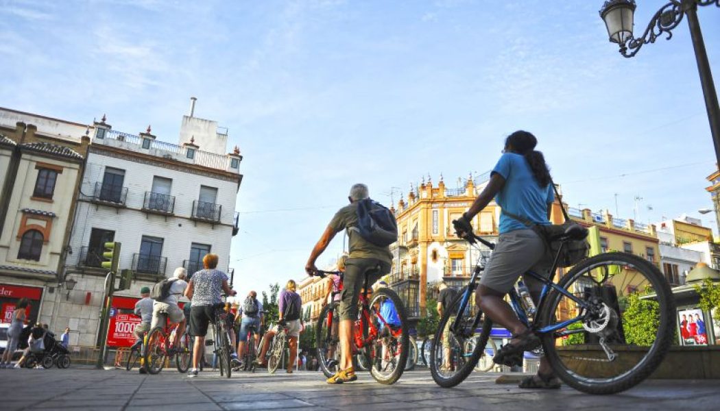
[[[581,240],[587,230],[580,225],[568,228],[550,240],[561,243],[554,256],[555,273],[562,249],[570,240]],[[477,250],[482,243],[492,250],[493,243],[469,233],[464,240]],[[469,284],[451,303],[438,326],[434,345],[441,345],[443,330],[449,325],[454,364],[451,371],[441,371],[437,349],[431,356],[431,373],[441,387],[462,382],[477,364],[485,350],[492,321],[474,304],[477,280],[484,268],[480,253]],[[654,264],[629,253],[602,253],[575,264],[556,284],[534,271],[526,276],[543,286],[537,309],[521,299],[517,289],[508,297],[518,318],[541,338],[536,355],[544,355],[565,384],[590,394],[621,392],[647,378],[657,369],[670,348],[675,332],[675,304],[670,285]],[[652,321],[642,326],[647,333],[638,336],[629,322],[628,308],[643,304],[652,311]],[[524,304],[524,306],[523,306]],[[454,321],[448,324],[451,316]],[[474,344],[467,345],[467,340]],[[470,351],[472,348],[472,351]]]

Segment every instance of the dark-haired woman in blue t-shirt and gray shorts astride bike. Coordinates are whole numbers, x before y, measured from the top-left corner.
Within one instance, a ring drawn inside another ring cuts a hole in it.
[[[492,322],[510,330],[513,338],[492,358],[495,363],[521,366],[523,352],[540,345],[537,335],[518,320],[510,304],[505,302],[513,285],[528,270],[549,274],[545,245],[534,230],[519,221],[538,225],[550,224],[550,204],[554,201],[552,180],[541,152],[534,150],[537,139],[526,131],[516,131],[505,140],[505,150],[490,173],[490,182],[472,203],[470,209],[454,222],[459,232],[472,232],[472,218],[487,204],[495,202],[503,209],[500,214],[498,244],[490,256],[480,279],[477,301]],[[513,216],[513,217],[510,217]],[[525,283],[537,303],[541,284],[525,276]],[[528,377],[521,388],[558,388],[549,364],[541,358],[536,376]]]

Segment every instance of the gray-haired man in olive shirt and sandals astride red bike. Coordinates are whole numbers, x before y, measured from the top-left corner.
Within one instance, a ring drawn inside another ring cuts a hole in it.
[[[357,376],[352,363],[352,337],[354,335],[354,321],[358,318],[358,298],[360,289],[367,277],[368,284],[373,284],[381,276],[390,272],[392,253],[390,248],[380,247],[369,243],[360,236],[357,230],[357,208],[358,202],[369,197],[365,184],[355,184],[350,189],[350,204],[338,210],[325,228],[323,236],[315,244],[315,248],[307,259],[305,271],[313,274],[318,271],[315,261],[320,254],[328,248],[330,241],[338,232],[348,230],[349,256],[345,262],[345,274],[343,276],[343,291],[340,302],[340,327],[338,336],[340,338],[340,371],[328,379],[329,384],[341,384],[343,382],[355,381]]]

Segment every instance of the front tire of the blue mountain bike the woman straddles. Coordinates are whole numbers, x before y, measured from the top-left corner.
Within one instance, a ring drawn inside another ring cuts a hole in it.
[[[445,310],[443,317],[438,324],[438,330],[436,331],[435,337],[433,338],[431,344],[432,349],[430,353],[430,364],[428,366],[430,367],[430,373],[433,376],[433,381],[435,381],[435,383],[438,384],[440,387],[455,387],[457,384],[460,384],[462,381],[464,381],[467,376],[472,373],[472,371],[474,371],[474,368],[477,365],[477,361],[480,359],[480,354],[482,353],[482,351],[485,350],[485,344],[487,343],[487,339],[490,338],[490,332],[492,331],[492,322],[485,319],[485,316],[480,311],[480,308],[478,308],[477,306],[471,307],[472,302],[468,302],[468,307],[466,308],[466,310],[469,309],[470,312],[472,312],[472,310],[477,310],[477,313],[474,315],[469,314],[467,316],[468,320],[472,319],[472,322],[467,323],[467,326],[473,328],[477,315],[480,315],[481,317],[482,328],[480,329],[480,334],[473,335],[473,337],[471,337],[477,338],[477,343],[472,352],[469,353],[469,357],[467,357],[467,360],[464,360],[462,364],[458,364],[456,366],[454,374],[448,376],[441,375],[440,368],[442,366],[443,360],[442,358],[438,358],[438,351],[445,350],[442,341],[445,326],[449,322],[450,317],[459,311],[460,304],[462,304],[462,299],[467,292],[468,286],[464,286],[461,292],[459,292],[453,299],[453,301],[450,303],[449,309]],[[475,327],[470,332],[477,333],[477,327]],[[457,339],[457,336],[454,333],[450,333],[450,335],[455,340]],[[464,341],[458,341],[458,344],[460,347],[464,347]],[[444,352],[441,355],[444,355]]]

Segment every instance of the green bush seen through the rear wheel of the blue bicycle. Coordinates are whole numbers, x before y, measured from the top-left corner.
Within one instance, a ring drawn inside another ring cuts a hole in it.
[[[627,297],[622,320],[628,344],[650,345],[660,327],[660,304],[654,299],[641,299],[640,293],[634,292]]]

